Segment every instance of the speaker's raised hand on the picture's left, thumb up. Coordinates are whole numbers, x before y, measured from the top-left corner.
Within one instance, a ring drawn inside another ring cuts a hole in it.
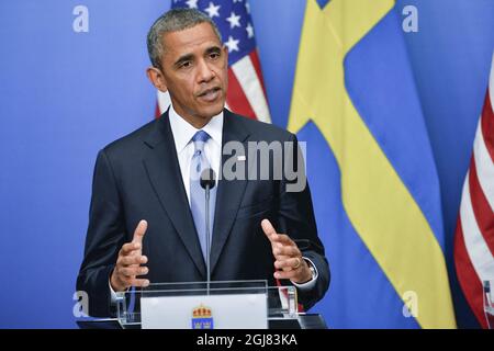
[[[122,246],[116,259],[115,268],[110,278],[110,284],[115,292],[123,292],[131,286],[148,286],[147,279],[137,279],[149,272],[147,257],[143,256],[143,237],[147,230],[147,222],[141,220],[134,231],[132,242]]]

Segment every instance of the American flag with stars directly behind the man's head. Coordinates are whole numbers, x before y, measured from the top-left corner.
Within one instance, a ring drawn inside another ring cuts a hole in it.
[[[248,1],[173,0],[171,7],[198,9],[216,23],[228,48],[227,107],[271,123]],[[159,112],[166,111],[169,104],[169,95],[158,92]]]

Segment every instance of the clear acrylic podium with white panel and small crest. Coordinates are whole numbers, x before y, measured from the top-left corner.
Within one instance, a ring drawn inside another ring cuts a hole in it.
[[[117,294],[124,329],[265,329],[297,322],[294,286],[267,281],[150,284]]]

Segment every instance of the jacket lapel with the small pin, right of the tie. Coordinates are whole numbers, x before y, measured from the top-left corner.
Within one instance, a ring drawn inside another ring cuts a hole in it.
[[[222,150],[228,141],[240,141],[244,144],[245,154],[247,154],[247,137],[249,132],[246,129],[242,118],[231,113],[228,110],[224,110],[223,121],[223,140]],[[236,155],[238,156],[238,155]],[[247,155],[245,155],[247,157]],[[231,155],[223,155],[221,167],[225,161],[232,157]],[[246,165],[248,165],[246,159]],[[246,167],[246,170],[248,168]],[[233,180],[228,181],[221,179],[218,181],[218,188],[216,192],[216,205],[214,213],[214,228],[213,228],[213,241],[211,247],[211,272],[214,272],[214,268],[220,259],[220,254],[223,251],[226,240],[228,239],[232,226],[234,224],[238,207],[244,196],[245,186],[247,180]]]

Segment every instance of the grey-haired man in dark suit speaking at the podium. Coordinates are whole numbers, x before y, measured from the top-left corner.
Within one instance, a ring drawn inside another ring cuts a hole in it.
[[[228,53],[201,12],[171,10],[159,18],[148,50],[147,75],[169,91],[171,106],[98,155],[77,280],[89,295],[90,315],[111,315],[115,292],[131,286],[204,281],[210,250],[212,280],[294,284],[310,308],[326,293],[329,269],[308,185],[289,191],[293,179],[278,179],[271,170],[268,179],[250,177],[252,168],[262,172],[277,160],[245,151],[259,143],[294,145],[282,158],[303,169],[295,136],[224,107]],[[231,155],[228,145],[245,148]],[[204,191],[193,176],[206,168],[221,176],[232,159],[244,177],[216,180],[206,248]]]

